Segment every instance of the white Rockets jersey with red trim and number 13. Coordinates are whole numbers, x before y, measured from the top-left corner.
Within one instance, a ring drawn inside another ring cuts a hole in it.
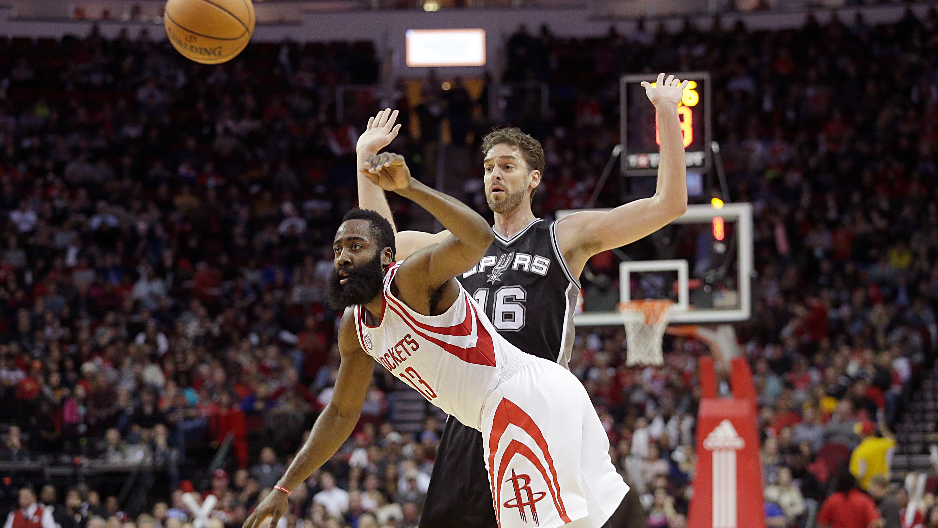
[[[366,323],[364,307],[355,307],[358,343],[446,414],[482,430],[486,399],[533,358],[499,336],[462,287],[439,315],[410,309],[391,294],[400,267],[394,264],[386,272],[384,314],[377,326]]]

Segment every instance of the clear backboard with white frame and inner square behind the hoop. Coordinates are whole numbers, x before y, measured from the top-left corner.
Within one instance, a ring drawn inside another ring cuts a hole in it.
[[[557,211],[556,218],[577,211]],[[674,302],[672,324],[749,319],[751,204],[723,204],[720,208],[688,205],[683,216],[656,233],[613,250],[613,255],[612,264],[591,264],[583,270],[582,303],[574,317],[578,326],[622,324],[616,302],[647,298]],[[594,271],[596,268],[601,269]]]

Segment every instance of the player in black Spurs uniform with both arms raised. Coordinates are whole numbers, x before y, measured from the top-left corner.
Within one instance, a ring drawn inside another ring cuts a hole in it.
[[[658,112],[658,188],[651,198],[608,212],[583,211],[549,222],[531,211],[540,184],[544,151],[518,128],[494,130],[482,142],[486,199],[494,213],[495,240],[477,265],[457,277],[485,310],[499,334],[523,352],[567,366],[573,346],[573,310],[579,277],[593,255],[639,240],[684,214],[688,206],[684,142],[677,106],[687,82],[658,75],[642,83]],[[397,136],[397,111],[369,120],[357,143],[358,158],[369,158]],[[358,173],[358,200],[393,223],[384,192]],[[397,258],[439,242],[448,233],[397,234]],[[448,419],[420,528],[495,528],[492,493],[477,430]],[[471,454],[471,455],[470,455]],[[610,520],[613,528],[647,526],[637,493],[629,493]]]

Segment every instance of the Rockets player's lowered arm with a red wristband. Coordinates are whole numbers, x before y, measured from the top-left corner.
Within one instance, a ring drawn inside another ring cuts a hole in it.
[[[346,309],[342,315],[339,350],[341,363],[332,400],[313,424],[306,444],[296,452],[290,467],[277,482],[286,490],[293,490],[329,460],[355,430],[361,415],[374,372],[374,360],[358,344],[354,308]],[[275,527],[287,508],[287,493],[272,490],[244,521],[242,528],[259,528],[268,517],[273,518],[270,526]]]

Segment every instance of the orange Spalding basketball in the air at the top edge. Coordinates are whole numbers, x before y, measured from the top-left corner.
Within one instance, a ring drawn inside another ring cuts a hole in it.
[[[168,0],[166,35],[185,57],[221,64],[241,53],[254,33],[250,0]]]

